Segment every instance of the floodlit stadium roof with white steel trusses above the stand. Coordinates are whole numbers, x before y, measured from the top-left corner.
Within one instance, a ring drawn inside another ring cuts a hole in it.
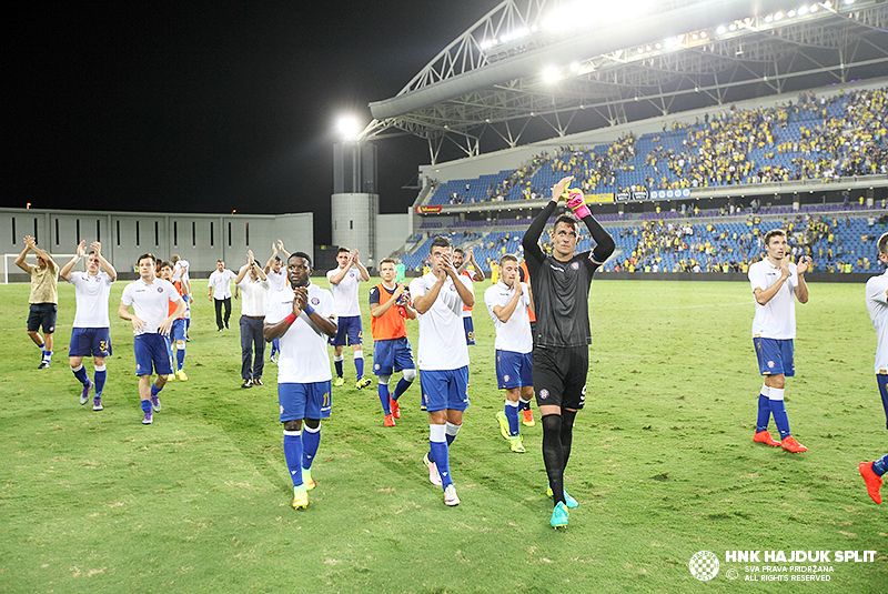
[[[371,103],[360,139],[414,134],[435,163],[445,140],[474,157],[532,123],[558,138],[886,72],[886,0],[505,0]]]

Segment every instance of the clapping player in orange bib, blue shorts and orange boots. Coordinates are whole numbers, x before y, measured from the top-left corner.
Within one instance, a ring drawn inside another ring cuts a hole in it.
[[[385,420],[383,425],[395,426],[401,419],[397,399],[406,392],[416,379],[413,351],[407,342],[407,326],[404,319],[415,320],[416,310],[410,304],[410,291],[396,283],[395,261],[385,258],[380,262],[382,282],[370,290],[370,328],[373,332],[373,373],[379,376],[380,403]],[[401,381],[392,394],[389,380],[394,372],[402,372]]]

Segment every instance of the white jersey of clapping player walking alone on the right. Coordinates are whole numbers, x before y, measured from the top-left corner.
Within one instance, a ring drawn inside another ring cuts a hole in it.
[[[749,266],[749,283],[753,294],[756,289],[763,291],[780,280],[780,269],[767,258]],[[780,286],[777,294],[765,305],[756,301],[756,316],[753,320],[753,336],[763,339],[789,340],[796,338],[796,286],[798,273],[796,265],[789,263],[789,278]]]

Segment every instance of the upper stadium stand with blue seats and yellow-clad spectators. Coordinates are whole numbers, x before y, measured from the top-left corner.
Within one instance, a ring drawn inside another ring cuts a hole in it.
[[[660,133],[622,135],[610,144],[562,147],[531,163],[441,184],[430,205],[546,198],[564,175],[586,193],[712,188],[888,173],[886,89],[833,97],[803,92],[755,110],[725,109]]]

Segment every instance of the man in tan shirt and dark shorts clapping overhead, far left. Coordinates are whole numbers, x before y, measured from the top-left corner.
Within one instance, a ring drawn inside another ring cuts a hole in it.
[[[26,264],[24,256],[33,251],[37,265]],[[56,314],[59,309],[59,266],[49,253],[37,246],[31,235],[24,238],[24,249],[16,258],[16,265],[31,275],[31,294],[28,298],[28,335],[43,354],[37,369],[48,369],[52,362],[52,336],[56,333]],[[40,336],[40,328],[43,336]]]

